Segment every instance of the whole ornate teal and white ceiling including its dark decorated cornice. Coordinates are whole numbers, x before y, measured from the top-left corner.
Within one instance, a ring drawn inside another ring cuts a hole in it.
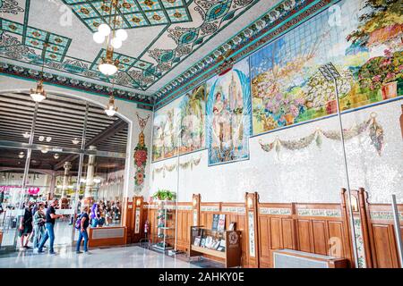
[[[106,46],[92,35],[110,0],[0,0],[0,72],[39,79],[45,57],[47,82],[107,95],[114,81],[116,97],[159,107],[330,2],[120,0],[129,38],[108,78],[98,71]]]

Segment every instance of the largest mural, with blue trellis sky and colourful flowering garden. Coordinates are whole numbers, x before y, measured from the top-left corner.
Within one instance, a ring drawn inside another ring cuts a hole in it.
[[[352,15],[357,15],[354,17]],[[253,133],[403,95],[399,1],[341,1],[251,56]]]

